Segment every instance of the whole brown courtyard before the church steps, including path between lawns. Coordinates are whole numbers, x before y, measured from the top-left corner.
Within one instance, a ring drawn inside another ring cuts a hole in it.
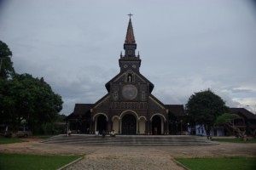
[[[185,169],[173,161],[182,157],[255,157],[256,144],[221,142],[201,146],[88,146],[44,144],[41,139],[1,144],[1,153],[81,155],[82,160],[64,169]]]

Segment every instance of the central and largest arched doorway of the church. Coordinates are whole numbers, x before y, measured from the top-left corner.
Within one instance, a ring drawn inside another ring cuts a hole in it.
[[[137,121],[136,117],[127,114],[122,119],[122,134],[136,134]]]

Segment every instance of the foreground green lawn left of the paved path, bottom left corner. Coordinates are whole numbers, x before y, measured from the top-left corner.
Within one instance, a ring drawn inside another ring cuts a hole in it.
[[[1,170],[31,170],[31,169],[57,169],[63,167],[81,156],[41,156],[26,154],[0,153]]]

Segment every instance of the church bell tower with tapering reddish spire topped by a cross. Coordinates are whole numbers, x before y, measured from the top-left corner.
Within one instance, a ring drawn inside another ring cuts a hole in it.
[[[124,43],[125,55],[123,55],[121,52],[119,59],[119,67],[121,72],[127,70],[128,68],[133,68],[134,70],[139,71],[139,67],[141,66],[140,55],[139,53],[136,55],[137,43],[135,41],[131,23],[132,14],[128,15],[130,16],[130,20],[128,23]]]

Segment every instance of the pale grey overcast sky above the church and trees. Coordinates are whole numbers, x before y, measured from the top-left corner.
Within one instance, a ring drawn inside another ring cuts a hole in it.
[[[44,77],[61,114],[96,103],[119,74],[131,16],[152,94],[185,105],[210,88],[230,107],[256,107],[256,5],[250,0],[0,0],[0,40],[15,71]],[[249,105],[249,106],[247,106]]]

